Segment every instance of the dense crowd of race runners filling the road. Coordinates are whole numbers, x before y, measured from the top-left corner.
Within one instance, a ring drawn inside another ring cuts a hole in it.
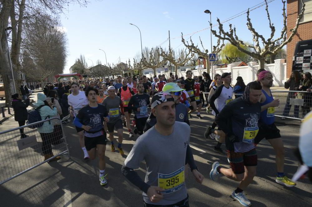
[[[190,125],[192,119],[202,119],[200,113],[205,107],[207,113],[211,111],[215,116],[215,120],[212,125],[207,125],[203,136],[207,142],[216,140],[213,150],[227,155],[230,164],[230,168],[226,168],[214,162],[209,169],[210,178],[218,183],[218,178],[224,175],[239,182],[231,196],[241,205],[250,206],[244,191],[256,176],[256,148],[263,139],[268,140],[275,150],[275,181],[287,187],[296,185],[284,172],[285,150],[280,130],[274,124],[275,107],[279,106],[279,100],[271,94],[272,83],[273,75],[264,69],[258,71],[256,81],[234,89],[231,73],[216,74],[211,80],[208,73],[193,77],[189,70],[185,79],[170,74],[168,78],[164,75],[153,78],[144,75],[134,78],[118,76],[115,80],[54,83],[46,85],[44,93],[48,95],[55,90],[55,97],[63,103],[63,116],[66,112],[72,116],[83,158],[99,157],[99,181],[102,186],[108,182],[106,143],[110,143],[111,152],[118,150],[120,155],[124,155],[123,127],[128,130],[128,139],[134,134],[139,135],[121,172],[143,191],[145,207],[189,206],[185,173],[190,168],[199,184],[204,179],[189,145]],[[41,94],[40,100],[44,100],[46,95]],[[52,110],[56,111],[55,108]],[[196,116],[193,117],[192,113]],[[311,113],[307,115],[309,123],[311,116]],[[117,143],[114,142],[114,135],[118,137]],[[304,152],[301,153],[304,155],[301,163],[311,167],[310,148],[301,144],[300,150]],[[145,181],[135,171],[142,161],[146,165]]]

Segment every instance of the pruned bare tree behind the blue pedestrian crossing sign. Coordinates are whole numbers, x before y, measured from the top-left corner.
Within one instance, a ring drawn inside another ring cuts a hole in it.
[[[220,35],[221,35],[221,33],[220,33]],[[196,45],[196,46],[194,45],[194,43],[192,41],[192,38],[190,38],[191,45],[189,45],[188,41],[185,43],[185,40],[183,38],[183,33],[181,33],[181,37],[182,37],[182,42],[183,42],[184,46],[188,50],[192,51],[193,53],[196,53],[198,56],[201,56],[201,57],[203,57],[206,60],[206,65],[205,66],[207,68],[207,73],[210,73],[209,51],[208,51],[208,49],[204,48],[204,45],[202,44],[202,40],[200,39],[200,37],[199,37],[200,44],[202,45],[202,48],[204,49],[204,51],[201,51],[198,48],[198,45]],[[222,44],[221,44],[221,39],[218,38],[217,45],[212,47],[213,48],[212,53],[217,55],[221,51],[223,46],[224,46],[224,40],[222,40]]]

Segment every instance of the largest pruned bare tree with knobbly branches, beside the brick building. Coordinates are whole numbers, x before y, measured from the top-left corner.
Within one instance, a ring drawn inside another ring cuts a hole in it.
[[[264,68],[266,56],[271,55],[271,54],[276,54],[277,51],[282,49],[287,43],[289,43],[292,40],[293,36],[297,33],[299,21],[302,18],[303,13],[305,11],[305,4],[302,0],[300,0],[300,1],[302,2],[302,8],[301,8],[300,13],[297,16],[295,27],[290,29],[289,30],[290,33],[287,34],[287,24],[286,24],[287,16],[286,16],[286,12],[285,12],[286,1],[282,0],[282,3],[283,3],[282,15],[284,17],[283,18],[284,27],[280,33],[280,36],[275,40],[273,39],[274,34],[275,34],[275,26],[273,26],[273,23],[271,23],[271,18],[270,18],[270,14],[269,14],[269,10],[268,10],[268,4],[267,4],[266,0],[265,0],[265,2],[266,2],[266,14],[267,14],[267,18],[269,20],[269,27],[271,29],[271,35],[268,39],[265,39],[263,35],[260,35],[255,30],[255,28],[252,26],[251,19],[249,17],[249,13],[250,13],[249,9],[246,12],[247,13],[247,27],[252,34],[252,39],[255,42],[255,45],[249,45],[249,44],[244,43],[242,40],[240,40],[238,38],[238,36],[236,35],[236,28],[235,28],[235,26],[234,26],[234,28],[232,28],[232,24],[229,25],[229,27],[230,27],[229,32],[224,31],[223,25],[220,22],[219,18],[217,18],[217,22],[219,24],[219,33],[221,32],[221,34],[223,36],[220,34],[217,34],[217,31],[215,31],[215,30],[212,30],[212,34],[215,35],[217,38],[229,41],[232,45],[235,45],[240,51],[242,51],[242,52],[248,54],[249,56],[257,59],[259,62],[260,68]],[[212,26],[211,22],[210,22],[210,26]],[[287,34],[287,36],[286,36],[286,34]],[[262,41],[262,45],[263,45],[262,48],[260,46],[260,41]],[[244,45],[248,48],[251,48],[252,50],[249,51],[247,49],[244,49],[243,47],[241,47],[241,45]]]

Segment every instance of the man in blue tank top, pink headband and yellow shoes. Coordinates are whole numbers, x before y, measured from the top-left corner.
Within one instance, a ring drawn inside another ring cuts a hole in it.
[[[262,86],[262,94],[260,97],[260,122],[263,125],[259,129],[259,133],[255,139],[255,144],[258,144],[263,138],[266,138],[266,140],[268,140],[268,142],[272,145],[275,151],[275,162],[277,167],[275,181],[287,187],[293,187],[296,185],[296,183],[291,181],[284,174],[285,149],[282,138],[280,136],[280,130],[277,129],[276,125],[274,124],[274,107],[279,106],[280,101],[273,98],[270,90],[270,87],[272,87],[273,85],[273,75],[267,70],[262,71],[258,75],[258,81],[261,83]]]

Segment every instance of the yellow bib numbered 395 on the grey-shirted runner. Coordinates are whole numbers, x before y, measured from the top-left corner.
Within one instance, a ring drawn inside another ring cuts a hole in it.
[[[165,191],[162,194],[172,193],[182,188],[184,183],[184,167],[170,174],[158,173],[158,187]]]

